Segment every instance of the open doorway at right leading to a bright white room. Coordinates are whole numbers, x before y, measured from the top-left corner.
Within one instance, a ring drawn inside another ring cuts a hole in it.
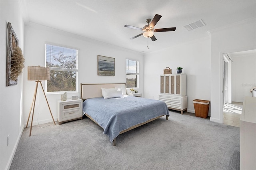
[[[240,127],[243,100],[245,96],[252,96],[250,89],[256,83],[255,77],[255,49],[223,55],[224,124]]]

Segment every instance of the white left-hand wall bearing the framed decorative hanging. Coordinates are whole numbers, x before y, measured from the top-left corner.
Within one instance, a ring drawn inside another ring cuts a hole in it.
[[[24,22],[21,18],[19,3],[0,0],[0,169],[8,169],[23,131],[23,75],[18,77],[18,85],[6,87],[6,35],[7,23],[24,49]],[[25,60],[26,61],[26,60]],[[7,136],[10,142],[7,146]]]

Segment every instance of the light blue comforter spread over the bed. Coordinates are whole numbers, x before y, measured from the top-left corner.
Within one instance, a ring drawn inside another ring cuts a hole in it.
[[[92,117],[104,129],[103,133],[109,136],[110,142],[122,130],[160,115],[169,116],[166,103],[132,96],[87,99],[83,103],[83,113]]]

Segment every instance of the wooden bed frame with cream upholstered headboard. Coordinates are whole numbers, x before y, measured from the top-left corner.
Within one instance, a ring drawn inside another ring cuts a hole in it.
[[[116,84],[82,84],[81,83],[81,98],[82,98],[82,100],[84,101],[84,100],[90,99],[90,98],[102,97],[101,88],[122,88],[123,94],[127,95],[126,83],[116,83]],[[97,125],[99,125],[92,117],[90,117],[86,113],[85,113],[85,115],[88,118],[90,118],[92,121],[94,121]],[[145,125],[146,123],[154,121],[154,120],[156,120],[156,119],[158,119],[158,118],[160,118],[162,116],[164,116],[164,115],[155,117],[155,118],[150,119],[150,120],[148,120],[146,122],[143,122],[143,123],[140,123],[138,125],[134,125],[134,126],[128,128],[128,129],[122,130],[119,134],[122,134],[124,132],[128,132],[129,130],[132,130],[132,129],[136,128],[136,127],[140,127],[142,125]],[[166,115],[166,120],[168,120],[168,115]],[[113,144],[113,146],[116,146],[116,138],[114,138],[112,144]]]

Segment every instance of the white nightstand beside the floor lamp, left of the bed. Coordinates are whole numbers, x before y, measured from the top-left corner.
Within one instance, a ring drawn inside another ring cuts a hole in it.
[[[67,99],[66,101],[58,101],[58,121],[59,125],[64,122],[73,121],[76,119],[83,119],[83,100],[71,100]]]

